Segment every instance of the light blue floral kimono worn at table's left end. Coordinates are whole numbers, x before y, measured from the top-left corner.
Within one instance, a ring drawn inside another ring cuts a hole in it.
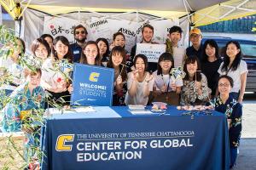
[[[39,127],[41,123],[38,116],[24,116],[32,110],[44,108],[44,90],[42,87],[34,88],[32,94],[28,89],[28,83],[21,84],[10,95],[10,102],[3,108],[3,130],[6,132],[20,132],[22,123],[32,124],[33,133],[26,133],[25,136],[25,158],[34,156],[35,150],[39,147]],[[23,116],[26,118],[23,118]],[[32,118],[31,118],[32,117]]]

